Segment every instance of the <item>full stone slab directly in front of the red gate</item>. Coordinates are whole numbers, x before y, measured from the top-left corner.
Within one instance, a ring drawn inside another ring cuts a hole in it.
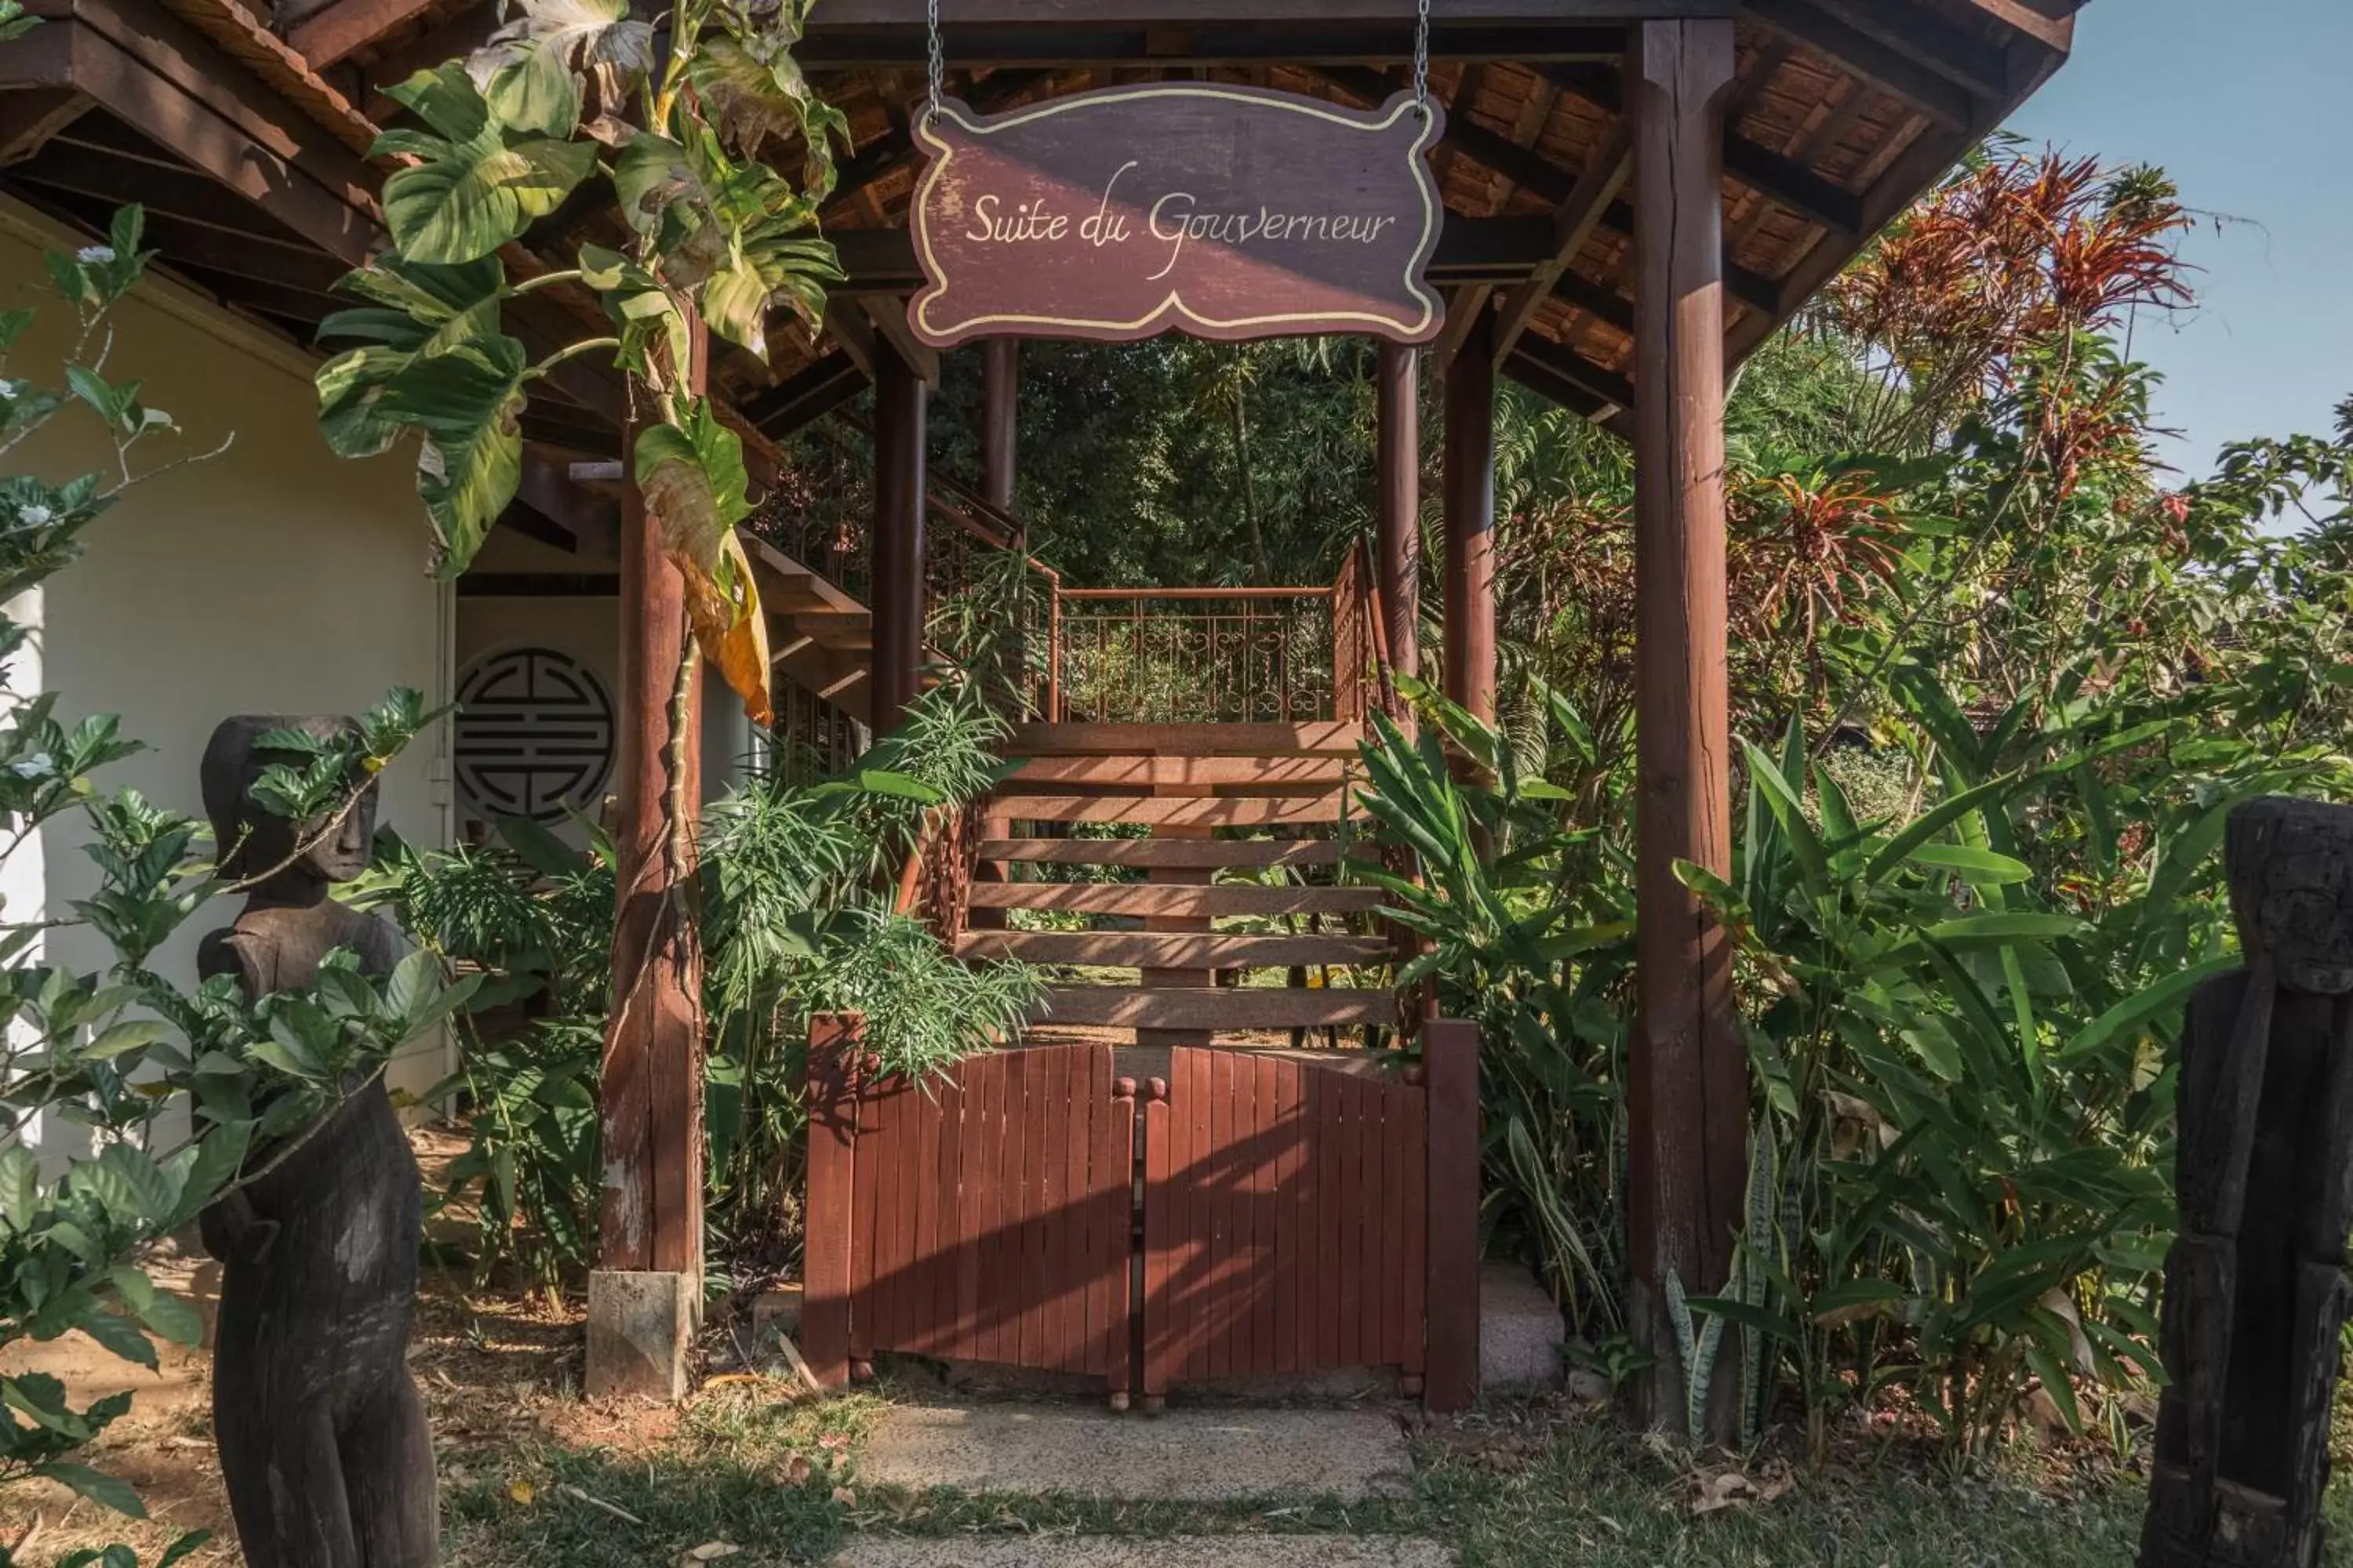
[[[1388,1413],[1306,1408],[899,1406],[859,1458],[866,1483],[1122,1502],[1358,1502],[1402,1493],[1412,1469],[1405,1429]]]

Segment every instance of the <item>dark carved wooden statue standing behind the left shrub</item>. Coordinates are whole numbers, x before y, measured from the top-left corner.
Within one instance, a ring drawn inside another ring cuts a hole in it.
[[[367,973],[398,959],[393,931],[327,891],[367,865],[374,785],[341,823],[259,809],[256,741],[348,719],[240,715],[205,748],[205,811],[226,870],[261,877],[198,969],[249,997],[308,985],[334,947]],[[318,839],[318,842],[313,842]],[[299,853],[296,853],[299,851]],[[252,1568],[424,1568],[435,1561],[433,1434],[407,1368],[424,1234],[416,1157],[369,1079],[261,1180],[205,1211],[221,1260],[212,1427]],[[268,1154],[264,1154],[268,1159]]]

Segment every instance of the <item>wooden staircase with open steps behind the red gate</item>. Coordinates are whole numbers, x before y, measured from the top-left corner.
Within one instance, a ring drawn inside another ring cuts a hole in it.
[[[1327,966],[1379,966],[1391,938],[1346,929],[1381,905],[1339,886],[1362,780],[1353,722],[1308,724],[1024,724],[1019,757],[981,816],[981,844],[958,952],[1134,969],[1134,985],[1059,985],[1042,1023],[1136,1030],[1139,1044],[1209,1044],[1217,1034],[1395,1025],[1393,990],[1299,985]],[[1144,825],[1148,837],[1014,837],[1078,823]],[[1240,835],[1257,837],[1240,837]],[[1315,837],[1308,837],[1315,835]],[[1136,879],[1068,879],[1122,867]],[[1221,882],[1226,872],[1280,879]],[[1085,931],[1024,931],[1016,910],[1082,914]],[[1273,917],[1297,931],[1219,931],[1221,917]],[[1287,971],[1289,985],[1252,985]]]

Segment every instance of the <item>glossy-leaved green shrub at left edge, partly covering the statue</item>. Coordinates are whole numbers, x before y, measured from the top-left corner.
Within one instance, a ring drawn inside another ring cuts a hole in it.
[[[14,663],[40,635],[38,599],[19,618],[16,595],[71,569],[129,491],[209,456],[184,447],[172,414],[146,404],[136,381],[108,371],[115,306],[148,263],[141,233],[129,207],[106,244],[47,256],[73,320],[52,374],[21,364],[35,313],[0,313],[0,458],[19,468],[0,477],[0,599],[16,602],[0,625],[0,661]],[[33,473],[26,444],[56,421],[94,425],[108,463],[66,480]],[[252,1001],[233,978],[195,987],[167,978],[165,943],[245,891],[219,867],[235,846],[209,853],[195,818],[136,790],[104,790],[96,776],[141,745],[113,715],[71,719],[61,701],[9,689],[0,715],[0,863],[38,839],[49,853],[78,844],[96,872],[68,910],[0,910],[0,1347],[80,1331],[153,1368],[158,1340],[195,1345],[202,1324],[148,1279],[144,1251],[268,1171],[400,1046],[440,1027],[471,983],[445,985],[421,957],[376,980],[353,954],[329,954],[306,990]],[[256,799],[301,823],[299,842],[315,842],[428,719],[414,691],[395,691],[336,741],[264,736],[275,759]],[[108,961],[92,971],[54,961],[68,931]],[[73,1140],[89,1152],[66,1157]],[[129,1406],[129,1394],[78,1406],[47,1373],[0,1373],[0,1486],[38,1476],[141,1514],[125,1481],[78,1458]],[[160,1563],[198,1544],[200,1533],[186,1535]],[[134,1568],[136,1559],[108,1547],[68,1561]]]

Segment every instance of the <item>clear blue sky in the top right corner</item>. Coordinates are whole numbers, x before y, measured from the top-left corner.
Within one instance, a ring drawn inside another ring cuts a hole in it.
[[[2009,122],[2162,165],[2200,303],[2141,315],[2165,458],[2198,477],[2249,435],[2325,433],[2353,395],[2353,0],[2094,0],[2075,59]]]

